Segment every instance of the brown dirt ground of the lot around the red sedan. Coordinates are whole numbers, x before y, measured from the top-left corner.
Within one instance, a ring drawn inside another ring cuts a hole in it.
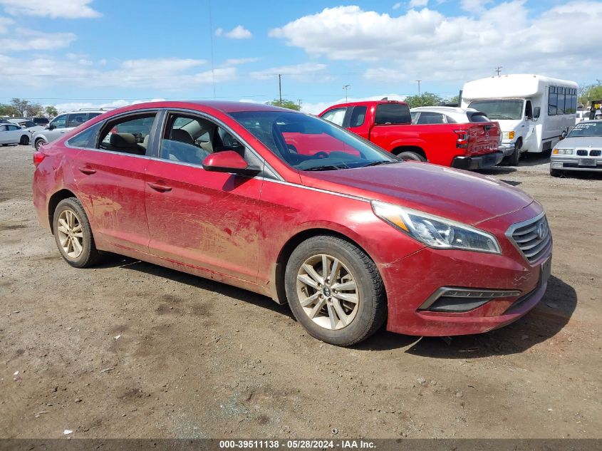
[[[68,266],[33,212],[32,153],[0,147],[0,437],[602,437],[601,175],[487,171],[544,204],[555,239],[517,323],[337,348],[247,291]]]

